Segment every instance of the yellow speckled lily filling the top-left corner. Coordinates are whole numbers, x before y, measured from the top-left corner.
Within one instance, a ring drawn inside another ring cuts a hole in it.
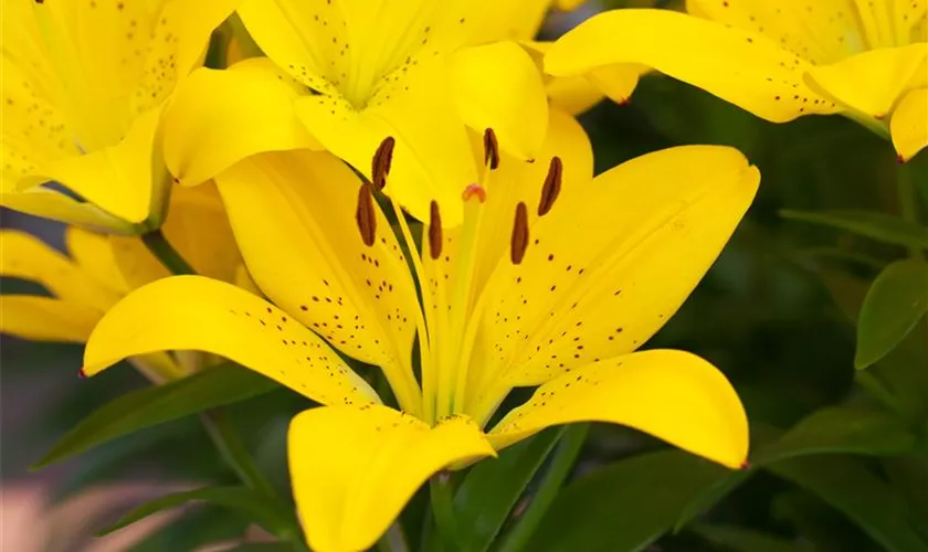
[[[115,233],[160,226],[171,183],[156,139],[161,105],[232,8],[4,1],[0,204]]]

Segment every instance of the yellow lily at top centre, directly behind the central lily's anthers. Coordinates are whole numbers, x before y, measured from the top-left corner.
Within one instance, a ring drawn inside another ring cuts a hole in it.
[[[178,91],[165,157],[198,184],[253,153],[327,149],[372,178],[396,140],[389,192],[419,219],[437,201],[450,226],[474,182],[467,127],[493,127],[531,159],[547,102],[531,57],[510,41],[462,50],[485,2],[244,0],[239,14],[268,59],[202,70]]]

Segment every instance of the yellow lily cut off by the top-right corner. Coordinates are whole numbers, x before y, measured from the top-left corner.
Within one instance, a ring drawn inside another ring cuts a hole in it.
[[[773,123],[840,113],[890,135],[900,161],[928,145],[925,0],[688,0],[687,9],[595,15],[558,41],[546,71],[644,64]],[[631,94],[629,83],[613,94]]]

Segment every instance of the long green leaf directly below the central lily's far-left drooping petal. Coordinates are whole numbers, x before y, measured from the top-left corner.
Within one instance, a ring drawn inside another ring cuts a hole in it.
[[[116,437],[244,401],[278,386],[263,375],[229,363],[164,385],[134,391],[81,421],[30,469],[41,469]]]

